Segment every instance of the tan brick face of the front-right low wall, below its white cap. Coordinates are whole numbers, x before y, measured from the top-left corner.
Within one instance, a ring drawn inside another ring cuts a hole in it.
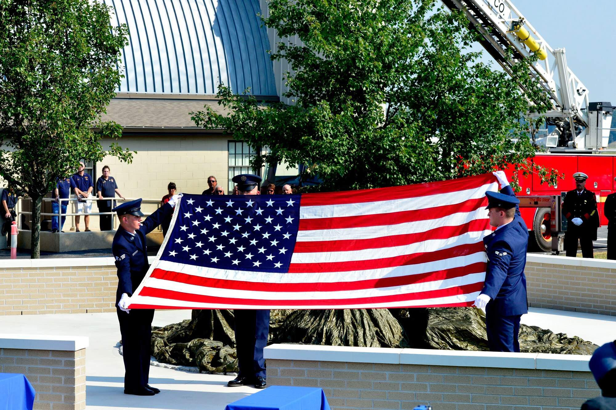
[[[323,388],[333,410],[577,410],[601,395],[590,372],[419,364],[268,359],[267,382]]]

